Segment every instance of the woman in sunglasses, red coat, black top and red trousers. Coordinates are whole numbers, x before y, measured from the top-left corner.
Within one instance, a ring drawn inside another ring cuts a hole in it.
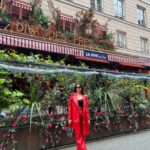
[[[86,150],[85,136],[89,134],[88,97],[81,84],[76,84],[68,102],[68,124],[74,129],[77,150]]]

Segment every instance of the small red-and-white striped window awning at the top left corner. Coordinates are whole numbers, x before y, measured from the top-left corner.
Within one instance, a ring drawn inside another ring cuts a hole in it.
[[[29,3],[23,2],[21,0],[11,0],[11,2],[13,6],[32,11],[32,5]]]

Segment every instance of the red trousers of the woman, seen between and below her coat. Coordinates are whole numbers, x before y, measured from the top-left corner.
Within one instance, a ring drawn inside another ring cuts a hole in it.
[[[76,134],[76,143],[77,143],[77,150],[87,150],[86,149],[86,144],[85,144],[85,137],[83,136],[83,111],[82,109],[79,110],[79,115],[80,115],[80,134]]]

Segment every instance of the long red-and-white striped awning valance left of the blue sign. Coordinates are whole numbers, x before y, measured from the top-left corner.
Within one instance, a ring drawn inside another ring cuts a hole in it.
[[[7,35],[2,33],[0,33],[0,44],[66,55],[83,56],[83,50],[73,46],[51,43],[42,40],[40,41],[14,35]]]

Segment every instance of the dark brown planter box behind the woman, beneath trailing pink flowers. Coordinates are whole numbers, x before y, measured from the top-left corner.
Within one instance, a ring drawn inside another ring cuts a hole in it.
[[[138,129],[137,130],[144,130],[150,128],[150,119],[141,120],[141,118],[137,118],[136,121],[138,122]],[[135,127],[130,127],[129,121],[125,118],[121,119],[122,130],[117,128],[114,122],[111,121],[110,128],[107,129],[106,127],[102,127],[101,130],[97,130],[96,132],[93,130],[91,125],[90,135],[86,138],[86,140],[96,140],[100,138],[105,138],[109,136],[115,136],[118,134],[125,134],[129,132],[135,132]],[[2,130],[2,128],[0,128]],[[16,132],[16,140],[17,140],[17,150],[40,150],[45,148],[52,148],[52,147],[61,147],[64,145],[69,145],[75,143],[74,137],[70,138],[66,136],[65,130],[61,130],[59,133],[59,138],[56,137],[55,129],[51,128],[53,135],[54,144],[48,142],[46,143],[46,139],[43,139],[40,136],[39,127],[33,127],[31,132],[29,132],[29,127],[22,127],[18,128]],[[59,128],[57,129],[60,130]],[[0,137],[1,140],[2,137]],[[56,141],[59,141],[58,143]],[[42,148],[42,145],[45,147]]]

